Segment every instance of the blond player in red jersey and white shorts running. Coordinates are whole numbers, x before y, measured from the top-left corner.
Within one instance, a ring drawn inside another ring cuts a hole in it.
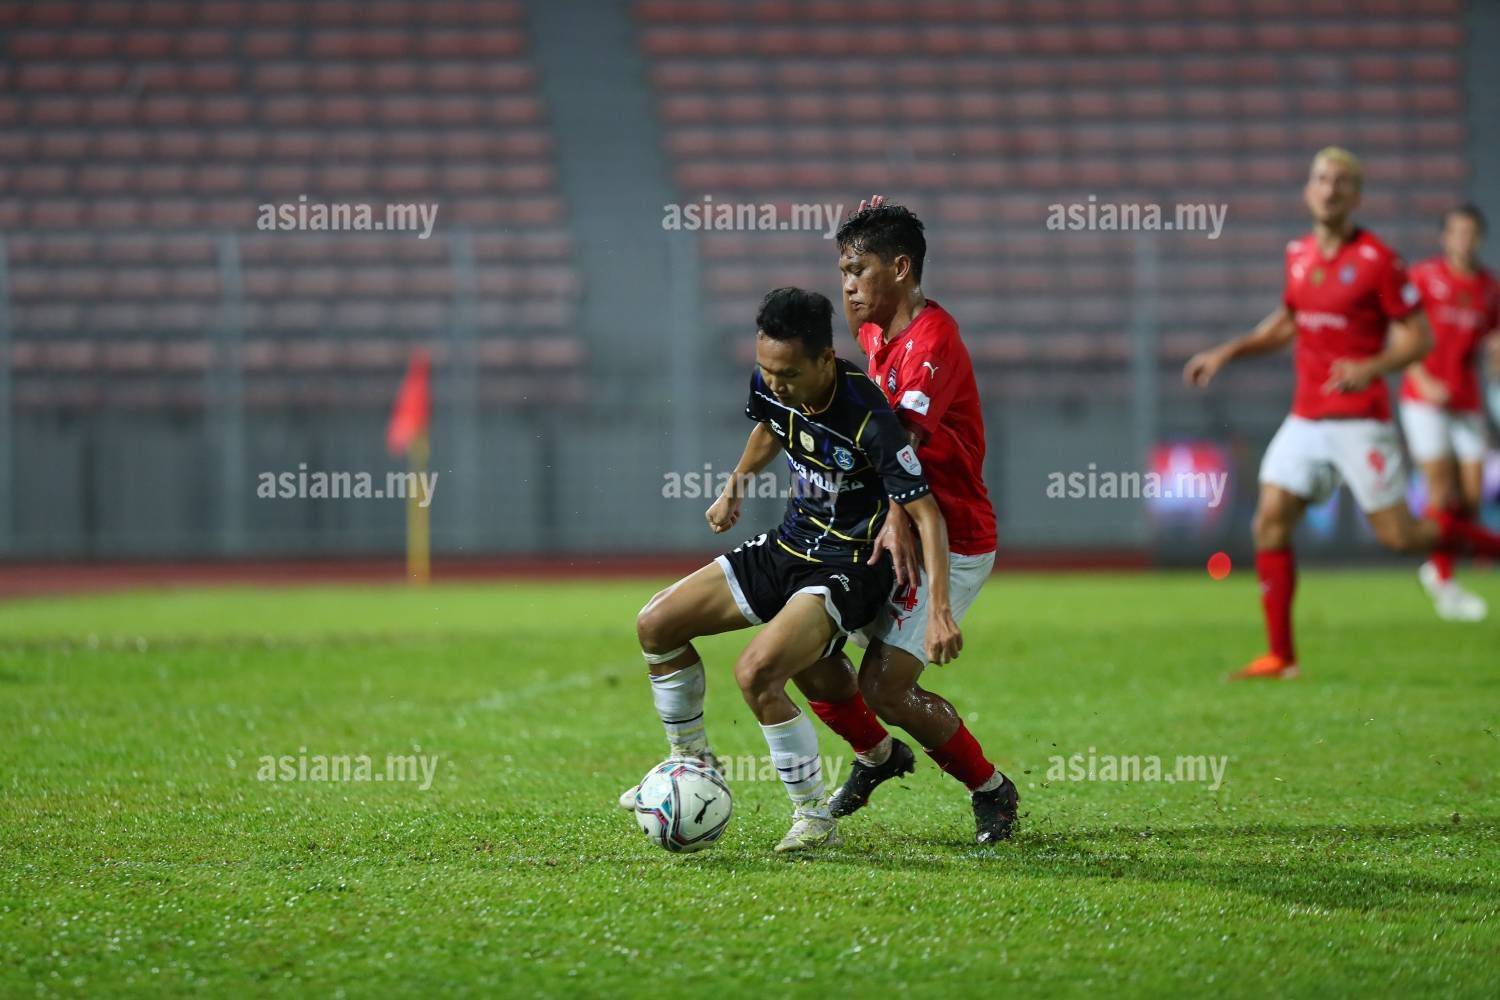
[[[1449,511],[1418,519],[1406,505],[1406,463],[1384,376],[1422,358],[1432,334],[1401,258],[1353,222],[1360,186],[1359,160],[1347,150],[1328,147],[1312,157],[1304,189],[1312,232],[1287,244],[1281,306],[1250,334],[1184,367],[1184,379],[1203,387],[1228,361],[1296,340],[1292,415],[1266,447],[1254,520],[1270,651],[1232,679],[1298,675],[1292,532],[1308,504],[1330,496],[1341,478],[1388,549],[1500,555],[1500,535]]]

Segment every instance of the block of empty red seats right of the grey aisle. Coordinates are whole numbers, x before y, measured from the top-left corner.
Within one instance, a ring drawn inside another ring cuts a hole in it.
[[[1360,214],[1408,256],[1436,252],[1466,180],[1458,0],[634,10],[684,201],[909,204],[928,223],[928,291],[994,364],[1128,357],[1136,238],[1048,232],[1052,204],[1227,204],[1218,240],[1156,237],[1176,363],[1276,303],[1314,150],[1364,156]],[[818,234],[705,232],[700,252],[726,337],[770,286],[837,289]]]

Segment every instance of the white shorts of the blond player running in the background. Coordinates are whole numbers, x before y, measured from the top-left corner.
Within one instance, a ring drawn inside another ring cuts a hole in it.
[[[1266,447],[1260,481],[1320,504],[1340,480],[1366,514],[1406,502],[1406,457],[1395,423],[1287,417]]]

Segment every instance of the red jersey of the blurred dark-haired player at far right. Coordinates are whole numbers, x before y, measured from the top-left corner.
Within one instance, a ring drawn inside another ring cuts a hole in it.
[[[1500,327],[1500,283],[1484,268],[1455,274],[1440,256],[1413,267],[1412,283],[1432,327],[1432,352],[1422,367],[1448,387],[1448,409],[1478,412],[1476,361],[1480,342]],[[1426,402],[1410,375],[1401,379],[1401,399]]]

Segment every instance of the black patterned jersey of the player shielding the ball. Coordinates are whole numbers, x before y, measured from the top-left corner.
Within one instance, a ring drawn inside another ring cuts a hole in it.
[[[816,414],[782,403],[756,369],[746,415],[780,438],[792,469],[777,544],[813,562],[860,562],[870,556],[890,501],[910,502],[928,487],[880,387],[843,358],[834,366],[832,399]]]

